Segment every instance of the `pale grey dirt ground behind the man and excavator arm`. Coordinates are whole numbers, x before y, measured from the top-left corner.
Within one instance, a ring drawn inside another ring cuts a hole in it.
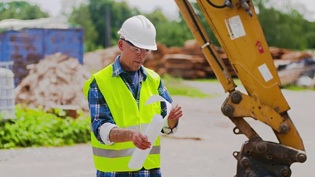
[[[247,138],[235,135],[232,132],[234,124],[221,113],[226,94],[220,84],[186,84],[216,96],[173,96],[183,107],[184,116],[173,138],[163,136],[161,139],[163,177],[234,177],[237,161],[232,153],[239,151]],[[239,90],[246,93],[242,87]],[[291,107],[288,113],[303,138],[308,155],[305,163],[291,166],[292,177],[314,177],[315,92],[283,90],[283,93]],[[248,121],[265,141],[278,142],[270,127],[252,118]],[[0,150],[0,177],[20,176],[95,177],[91,145]]]

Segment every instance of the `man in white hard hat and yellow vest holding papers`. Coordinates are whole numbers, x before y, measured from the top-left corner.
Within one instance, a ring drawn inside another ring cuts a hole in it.
[[[148,142],[144,132],[155,114],[166,115],[165,102],[145,105],[159,94],[172,99],[153,70],[142,66],[151,50],[157,50],[156,29],[144,16],[127,19],[118,31],[121,55],[85,83],[91,112],[92,147],[97,177],[161,177],[160,141]],[[162,133],[177,131],[182,109],[172,110]],[[135,148],[152,149],[141,169],[129,169]]]

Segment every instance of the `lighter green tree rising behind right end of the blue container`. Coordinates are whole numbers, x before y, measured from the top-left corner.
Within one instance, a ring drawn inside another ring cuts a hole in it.
[[[84,45],[86,52],[94,51],[98,48],[96,45],[98,32],[93,24],[88,5],[81,4],[80,7],[74,8],[68,22],[74,26],[79,25],[84,29]]]

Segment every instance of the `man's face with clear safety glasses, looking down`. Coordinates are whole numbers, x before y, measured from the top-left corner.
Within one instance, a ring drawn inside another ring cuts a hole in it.
[[[148,53],[143,49],[139,49],[135,46],[130,46],[126,41],[119,40],[118,42],[119,49],[122,51],[119,63],[122,66],[124,71],[137,71],[140,69],[144,60],[147,58]],[[137,53],[137,50],[140,50],[140,53]]]

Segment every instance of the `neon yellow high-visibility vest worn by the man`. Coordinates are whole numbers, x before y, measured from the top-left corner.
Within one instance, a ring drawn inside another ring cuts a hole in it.
[[[131,91],[127,88],[120,76],[112,77],[113,66],[92,75],[85,82],[83,92],[88,96],[91,82],[95,79],[111,111],[115,123],[121,128],[137,129],[145,132],[155,114],[160,114],[160,103],[145,105],[147,99],[158,94],[159,76],[153,70],[145,68],[149,78],[142,82],[140,91],[139,109]],[[128,172],[140,169],[129,169],[128,162],[135,150],[133,143],[115,143],[113,145],[101,144],[91,131],[93,157],[95,168],[102,172]],[[160,141],[159,136],[154,143],[143,167],[147,170],[160,167]]]

